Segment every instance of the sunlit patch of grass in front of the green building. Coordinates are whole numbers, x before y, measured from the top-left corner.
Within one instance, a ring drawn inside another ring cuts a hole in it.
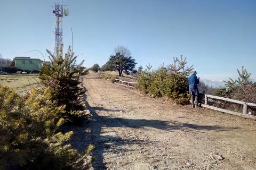
[[[22,92],[25,90],[29,90],[30,87],[35,86],[35,84],[39,81],[38,75],[1,75],[0,74],[0,84],[7,85],[16,91]]]

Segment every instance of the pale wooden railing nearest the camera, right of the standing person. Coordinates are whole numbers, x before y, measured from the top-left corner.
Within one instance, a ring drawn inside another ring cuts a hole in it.
[[[228,111],[226,109],[222,109],[222,108],[218,108],[218,107],[214,107],[214,106],[209,106],[208,105],[208,99],[209,98],[219,99],[219,100],[229,101],[231,103],[241,104],[241,105],[243,105],[243,113]],[[242,116],[242,117],[250,117],[250,118],[256,119],[256,116],[252,116],[252,115],[247,114],[247,112],[248,112],[247,106],[254,106],[254,107],[256,107],[256,104],[254,104],[254,103],[246,103],[244,101],[229,99],[229,98],[225,98],[225,97],[205,95],[205,97],[204,97],[204,105],[202,105],[202,106],[210,108],[210,109],[213,109],[215,111],[220,111],[220,112],[224,112],[224,113],[228,113],[228,114],[233,114],[233,115]]]

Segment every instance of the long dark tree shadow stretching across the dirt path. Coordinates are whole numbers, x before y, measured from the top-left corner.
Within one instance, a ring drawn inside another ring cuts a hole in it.
[[[86,101],[86,108],[89,109],[91,117],[85,121],[82,126],[71,126],[69,130],[74,131],[73,138],[70,143],[73,148],[83,151],[90,143],[95,145],[92,154],[95,157],[95,162],[92,164],[94,169],[106,169],[104,164],[104,154],[106,152],[127,152],[129,150],[122,148],[124,145],[134,145],[142,143],[154,143],[149,139],[124,139],[113,135],[104,135],[102,128],[154,128],[168,132],[175,131],[237,131],[238,127],[224,127],[211,125],[197,125],[190,123],[181,123],[177,121],[160,121],[160,120],[145,120],[145,119],[126,119],[119,117],[100,116],[98,111],[119,112],[118,109],[107,109],[104,107],[91,107]],[[111,133],[111,132],[110,132]]]

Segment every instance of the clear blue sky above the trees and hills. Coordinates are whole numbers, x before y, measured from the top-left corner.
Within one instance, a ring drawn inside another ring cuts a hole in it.
[[[0,53],[5,58],[54,49],[55,3],[0,0]],[[72,44],[84,66],[100,66],[118,45],[126,46],[145,68],[186,56],[198,77],[226,80],[245,66],[256,79],[256,1],[247,0],[84,0],[63,1],[63,43]]]

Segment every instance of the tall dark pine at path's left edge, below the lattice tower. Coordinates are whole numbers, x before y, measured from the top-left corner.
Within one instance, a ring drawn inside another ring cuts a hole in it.
[[[80,78],[87,71],[81,68],[80,64],[76,64],[77,56],[71,51],[70,46],[68,52],[62,56],[63,45],[59,56],[54,56],[49,50],[50,65],[43,65],[39,79],[44,87],[49,87],[52,91],[51,100],[55,101],[57,106],[65,105],[65,120],[72,122],[79,120],[84,110],[82,95],[85,90],[79,86]]]

